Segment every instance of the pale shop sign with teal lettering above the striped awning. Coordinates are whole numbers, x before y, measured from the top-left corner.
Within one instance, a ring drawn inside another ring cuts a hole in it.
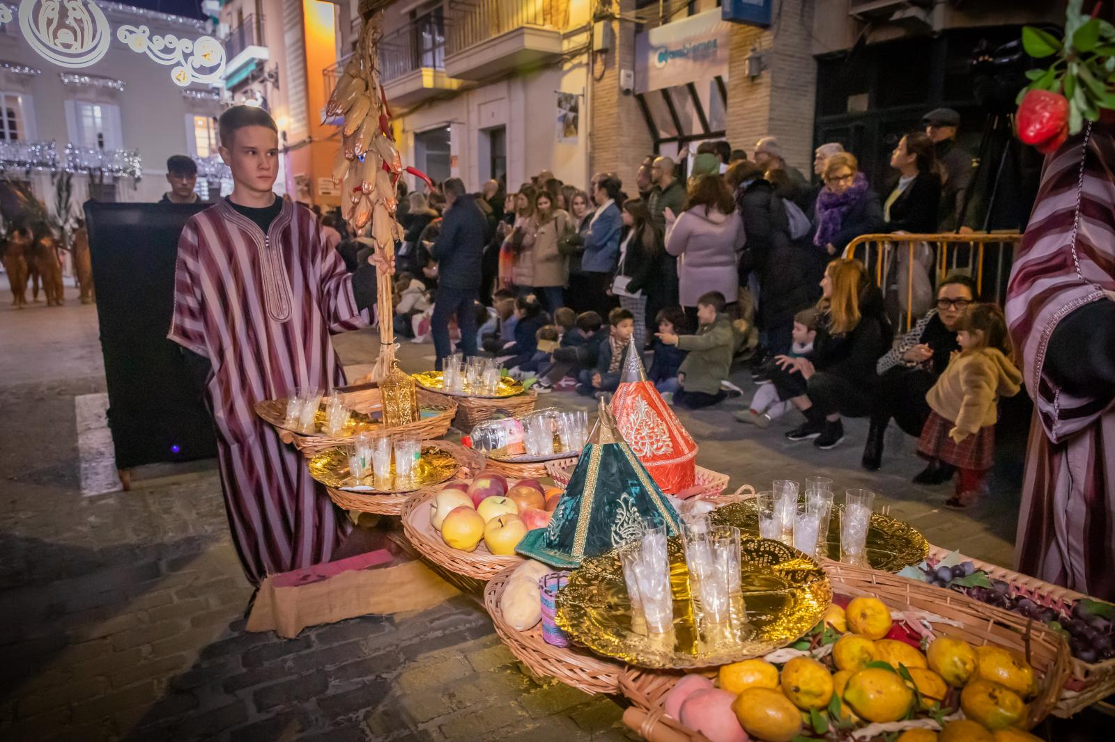
[[[636,92],[728,77],[731,25],[707,10],[636,36]]]

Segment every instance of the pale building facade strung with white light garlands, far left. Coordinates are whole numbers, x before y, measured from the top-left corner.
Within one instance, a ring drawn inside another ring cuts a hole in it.
[[[21,33],[17,9],[0,26],[0,168],[27,183],[54,208],[59,172],[72,172],[72,204],[158,201],[167,189],[166,159],[191,155],[200,189],[219,187],[220,96],[210,86],[180,87],[171,68],[136,53],[117,37],[123,26],[152,35],[196,38],[205,21],[99,2],[112,41],[93,66],[74,69],[40,56]],[[213,176],[212,183],[206,175]],[[215,195],[215,194],[214,194]]]

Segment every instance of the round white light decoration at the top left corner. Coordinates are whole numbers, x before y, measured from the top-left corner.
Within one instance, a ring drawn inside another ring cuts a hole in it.
[[[108,19],[93,0],[21,0],[19,27],[40,57],[72,69],[100,61],[112,41]]]

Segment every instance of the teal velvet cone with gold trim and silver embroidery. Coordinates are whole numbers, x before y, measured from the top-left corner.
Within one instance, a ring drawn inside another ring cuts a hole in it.
[[[515,550],[570,569],[584,557],[638,538],[644,521],[665,525],[671,536],[679,533],[677,510],[620,437],[615,418],[601,399],[600,418],[550,525],[529,531]]]

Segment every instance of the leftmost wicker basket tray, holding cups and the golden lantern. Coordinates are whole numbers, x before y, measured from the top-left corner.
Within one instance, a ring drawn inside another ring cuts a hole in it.
[[[415,436],[423,440],[430,440],[444,436],[449,430],[454,416],[457,413],[457,399],[425,389],[418,389],[417,393],[418,406],[426,410],[435,410],[435,414],[396,428],[386,428],[377,423],[369,427],[367,433],[372,438],[388,437],[391,440]],[[340,397],[345,404],[356,412],[369,414],[380,410],[379,389],[341,392]],[[326,401],[328,398],[322,398],[322,402]],[[285,428],[287,400],[284,399],[256,402],[255,413],[275,427],[279,431],[279,438],[283,442],[293,443],[294,448],[302,451],[308,459],[312,459],[326,449],[343,446],[351,438],[351,433],[346,436],[307,435]]]

